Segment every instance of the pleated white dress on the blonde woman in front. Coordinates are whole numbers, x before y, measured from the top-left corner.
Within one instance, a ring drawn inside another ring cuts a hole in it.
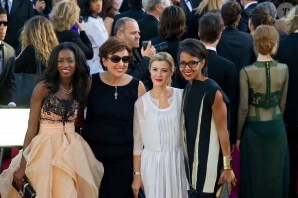
[[[173,90],[168,108],[158,108],[159,101],[150,92],[135,104],[134,155],[141,155],[141,178],[147,198],[188,197],[179,124],[183,90]]]

